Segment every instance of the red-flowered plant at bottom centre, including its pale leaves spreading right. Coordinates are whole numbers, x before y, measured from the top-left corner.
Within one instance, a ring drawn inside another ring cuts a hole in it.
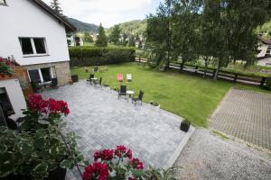
[[[96,151],[94,163],[86,166],[83,180],[174,180],[171,170],[145,170],[143,163],[133,157],[131,149],[117,146]]]

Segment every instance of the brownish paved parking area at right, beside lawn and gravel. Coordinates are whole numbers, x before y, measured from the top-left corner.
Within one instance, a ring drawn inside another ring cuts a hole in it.
[[[229,90],[210,127],[271,150],[271,94]]]

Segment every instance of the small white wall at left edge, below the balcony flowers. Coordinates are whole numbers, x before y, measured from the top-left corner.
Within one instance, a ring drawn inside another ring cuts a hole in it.
[[[26,103],[23,97],[23,91],[18,79],[1,80],[0,87],[5,87],[9,100],[13,105],[15,114],[11,116],[16,120],[19,117],[23,117],[21,109],[26,108]]]

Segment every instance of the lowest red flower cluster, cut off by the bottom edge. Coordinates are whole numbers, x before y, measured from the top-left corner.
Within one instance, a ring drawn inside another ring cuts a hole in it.
[[[107,164],[100,162],[94,162],[92,165],[89,165],[85,168],[83,173],[83,180],[107,180],[109,176]]]

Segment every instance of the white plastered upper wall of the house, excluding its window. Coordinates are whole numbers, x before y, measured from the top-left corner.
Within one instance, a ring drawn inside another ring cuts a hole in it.
[[[6,0],[0,5],[0,57],[14,55],[21,65],[70,60],[65,27],[31,0]],[[19,37],[45,38],[48,56],[23,57]]]

